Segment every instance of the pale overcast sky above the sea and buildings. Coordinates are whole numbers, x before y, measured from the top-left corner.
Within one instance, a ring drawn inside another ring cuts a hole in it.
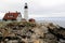
[[[0,0],[0,19],[6,12],[21,12],[28,3],[29,17],[65,17],[65,0]]]

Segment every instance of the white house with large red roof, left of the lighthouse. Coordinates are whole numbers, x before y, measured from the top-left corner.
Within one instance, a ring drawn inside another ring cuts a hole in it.
[[[22,20],[22,15],[20,12],[9,12],[5,13],[3,20],[17,20],[21,22]]]

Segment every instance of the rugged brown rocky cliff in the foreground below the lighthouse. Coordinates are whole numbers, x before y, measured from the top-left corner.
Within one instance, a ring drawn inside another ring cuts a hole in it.
[[[65,40],[65,28],[52,23],[6,23],[0,27],[0,32],[3,42],[6,37],[11,38],[6,38],[6,42],[17,40],[17,43],[58,43],[60,39]],[[14,37],[17,39],[12,39]]]

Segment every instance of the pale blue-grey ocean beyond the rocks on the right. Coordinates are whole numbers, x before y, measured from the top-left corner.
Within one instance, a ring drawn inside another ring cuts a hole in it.
[[[38,17],[35,19],[40,23],[44,23],[44,22],[54,23],[54,24],[65,28],[65,17]]]

